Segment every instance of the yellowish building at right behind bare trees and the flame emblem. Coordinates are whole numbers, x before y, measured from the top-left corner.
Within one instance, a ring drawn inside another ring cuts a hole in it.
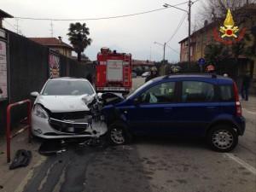
[[[247,47],[251,46],[253,48],[254,44],[254,54],[246,55],[239,54],[236,56],[234,51],[230,53],[230,58],[226,60],[226,62],[221,63],[223,66],[220,66],[222,70],[221,73],[230,73],[231,78],[236,79],[236,81],[241,83],[241,76],[250,72],[253,78],[253,86],[252,92],[256,93],[256,4],[249,4],[247,6],[242,7],[241,9],[237,9],[233,15],[236,26],[240,28],[240,31],[237,33],[239,39],[242,31],[247,34],[249,40],[245,40],[245,46],[243,49],[247,49]],[[208,24],[205,22],[204,27],[195,31],[191,35],[190,40],[190,60],[193,62],[199,61],[200,58],[205,58],[205,50],[207,45],[209,44],[224,44],[224,46],[229,46],[232,49],[232,45],[225,44],[226,42],[221,41],[221,34],[219,32],[219,27],[224,25],[224,18],[215,20],[214,22]],[[218,36],[218,37],[217,37]],[[242,37],[244,38],[244,37]],[[179,42],[180,44],[180,61],[185,62],[188,61],[188,38],[184,38]],[[234,45],[234,44],[233,44]],[[237,58],[236,58],[237,57]],[[236,65],[235,65],[236,61]],[[215,65],[215,63],[211,63]]]

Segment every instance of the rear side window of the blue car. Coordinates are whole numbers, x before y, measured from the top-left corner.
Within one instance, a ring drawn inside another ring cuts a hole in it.
[[[183,102],[213,102],[214,85],[199,81],[184,81]]]

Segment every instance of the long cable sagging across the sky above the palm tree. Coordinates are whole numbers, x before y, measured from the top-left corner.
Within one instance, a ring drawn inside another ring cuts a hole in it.
[[[188,3],[188,2],[178,3],[178,4],[175,4],[172,6],[183,5],[185,3]],[[109,20],[109,19],[124,18],[124,17],[136,16],[136,15],[144,15],[144,14],[149,14],[149,13],[153,13],[153,12],[164,10],[164,9],[169,9],[169,8],[153,9],[153,10],[143,11],[143,12],[129,14],[129,15],[116,15],[116,16],[99,17],[99,18],[84,18],[84,19],[52,19],[52,18],[33,18],[33,17],[14,17],[14,18],[21,19],[21,20],[55,20],[55,21]]]

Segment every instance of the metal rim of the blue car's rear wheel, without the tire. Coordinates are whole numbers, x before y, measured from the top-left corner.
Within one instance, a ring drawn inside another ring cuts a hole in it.
[[[230,148],[234,142],[234,137],[230,131],[218,130],[212,135],[212,143],[215,147],[226,149]]]

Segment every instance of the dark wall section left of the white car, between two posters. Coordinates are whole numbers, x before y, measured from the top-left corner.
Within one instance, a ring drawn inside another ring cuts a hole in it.
[[[10,102],[40,90],[49,76],[49,49],[9,32]]]

